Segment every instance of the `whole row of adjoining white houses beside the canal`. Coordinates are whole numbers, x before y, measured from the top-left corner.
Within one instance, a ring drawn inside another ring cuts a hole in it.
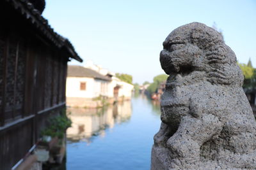
[[[116,78],[108,70],[94,64],[86,67],[68,66],[67,105],[96,108],[102,106],[100,99],[108,103],[129,100],[133,87]]]

